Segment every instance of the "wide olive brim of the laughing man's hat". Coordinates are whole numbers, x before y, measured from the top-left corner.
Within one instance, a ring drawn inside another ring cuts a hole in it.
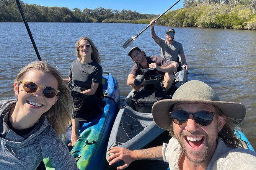
[[[225,102],[225,101],[208,101],[200,98],[195,99],[164,99],[153,104],[152,115],[155,123],[162,129],[169,130],[171,124],[170,108],[176,103],[206,103],[218,107],[222,113],[235,119],[235,124],[239,124],[245,118],[246,108],[241,103]]]

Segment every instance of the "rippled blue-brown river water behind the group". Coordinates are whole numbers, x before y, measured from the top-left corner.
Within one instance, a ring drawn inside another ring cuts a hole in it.
[[[130,47],[123,44],[137,35],[145,24],[110,23],[29,23],[42,60],[54,64],[67,77],[76,59],[75,43],[90,37],[99,49],[104,72],[116,77],[121,99],[131,90],[126,84],[133,62],[127,53],[139,46],[147,55],[160,55],[160,49],[145,30]],[[159,37],[168,27],[155,26]],[[202,80],[214,88],[222,100],[246,106],[240,124],[256,149],[256,31],[200,28],[175,28],[175,40],[181,42],[189,64],[189,80]],[[13,80],[22,66],[37,56],[23,22],[0,22],[0,99],[13,98]]]

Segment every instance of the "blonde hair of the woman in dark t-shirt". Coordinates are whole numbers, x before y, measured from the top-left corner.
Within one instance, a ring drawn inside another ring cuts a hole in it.
[[[81,40],[85,40],[85,41],[88,41],[91,45],[91,48],[93,49],[93,53],[91,54],[91,59],[93,61],[95,61],[96,63],[100,64],[101,63],[101,59],[99,57],[99,51],[98,51],[98,48],[95,46],[95,44],[93,43],[93,41],[88,38],[88,37],[81,37],[79,38],[79,40],[77,41],[77,43],[75,43],[75,48],[76,48],[76,56],[78,58],[78,60],[80,61],[82,59],[81,55],[80,55],[80,50],[79,50],[79,43]]]

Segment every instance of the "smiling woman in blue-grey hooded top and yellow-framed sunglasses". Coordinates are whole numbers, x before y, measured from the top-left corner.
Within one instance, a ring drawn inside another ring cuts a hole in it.
[[[49,157],[54,168],[78,169],[61,138],[70,125],[72,97],[59,71],[44,61],[24,67],[17,99],[0,101],[0,169],[35,170]]]

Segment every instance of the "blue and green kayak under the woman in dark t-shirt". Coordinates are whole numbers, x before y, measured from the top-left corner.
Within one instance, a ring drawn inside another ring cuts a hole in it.
[[[79,139],[75,146],[68,147],[80,170],[101,170],[104,168],[109,135],[119,111],[120,92],[117,80],[112,74],[103,75],[102,113],[91,121],[80,121]],[[71,132],[71,128],[68,130]],[[65,144],[70,143],[67,132]],[[49,159],[44,159],[47,170],[54,169]]]

